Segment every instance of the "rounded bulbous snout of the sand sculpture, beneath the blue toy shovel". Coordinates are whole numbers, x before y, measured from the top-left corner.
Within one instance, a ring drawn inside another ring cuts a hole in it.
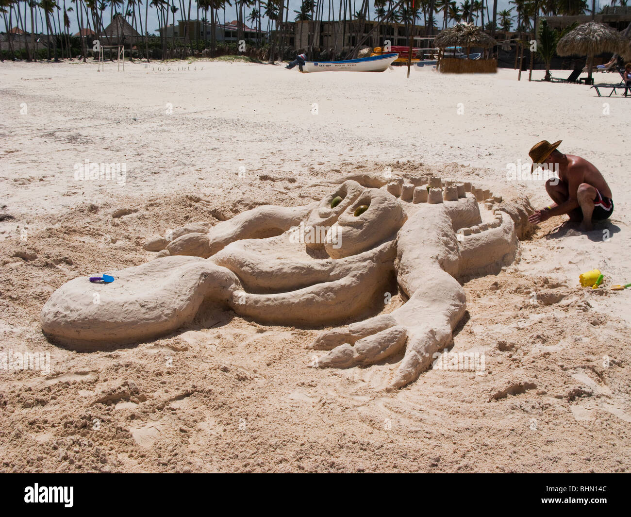
[[[230,270],[172,256],[114,271],[112,283],[74,278],[42,309],[44,334],[76,350],[98,350],[165,335],[189,323],[204,301],[226,305],[241,287]]]

